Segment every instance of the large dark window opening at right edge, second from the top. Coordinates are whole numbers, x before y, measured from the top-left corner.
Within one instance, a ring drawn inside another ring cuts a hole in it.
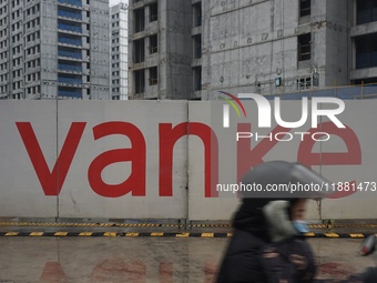
[[[377,67],[377,33],[355,38],[356,69]]]

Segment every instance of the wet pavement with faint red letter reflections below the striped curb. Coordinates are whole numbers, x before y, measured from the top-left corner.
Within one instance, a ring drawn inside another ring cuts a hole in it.
[[[213,282],[228,239],[1,237],[0,282]],[[374,266],[361,240],[310,239],[320,273]],[[339,249],[342,246],[342,249]]]

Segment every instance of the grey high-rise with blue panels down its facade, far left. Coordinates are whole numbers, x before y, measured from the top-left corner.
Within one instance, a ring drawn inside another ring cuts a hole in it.
[[[106,0],[1,0],[0,97],[109,99]]]

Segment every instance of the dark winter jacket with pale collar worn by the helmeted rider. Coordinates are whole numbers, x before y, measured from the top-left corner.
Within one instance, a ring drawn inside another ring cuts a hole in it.
[[[235,216],[235,231],[220,267],[217,283],[313,282],[313,253],[307,242],[294,235],[286,213],[289,202],[254,202],[254,210],[241,208]],[[267,205],[263,205],[263,210],[256,202]],[[262,225],[255,225],[257,222]]]

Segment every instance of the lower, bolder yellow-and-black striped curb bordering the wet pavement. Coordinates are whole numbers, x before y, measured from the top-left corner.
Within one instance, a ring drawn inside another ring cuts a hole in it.
[[[150,237],[231,237],[233,233],[135,233],[135,232],[0,232],[0,237],[6,236],[150,236]],[[364,239],[369,234],[364,233],[306,233],[306,237],[330,237],[330,239]],[[377,234],[376,234],[377,235]]]

